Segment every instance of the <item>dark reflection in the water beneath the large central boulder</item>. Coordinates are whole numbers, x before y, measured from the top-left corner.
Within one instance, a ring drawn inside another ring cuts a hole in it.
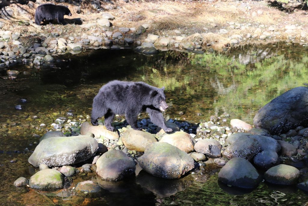
[[[163,179],[141,170],[136,182],[160,197],[169,197],[177,192],[184,191],[193,183],[193,178],[188,175],[180,179]]]

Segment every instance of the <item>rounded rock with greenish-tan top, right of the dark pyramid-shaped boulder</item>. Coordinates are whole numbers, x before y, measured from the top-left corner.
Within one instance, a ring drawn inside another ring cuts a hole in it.
[[[277,165],[264,173],[265,181],[273,184],[291,185],[299,178],[299,170],[290,165]]]

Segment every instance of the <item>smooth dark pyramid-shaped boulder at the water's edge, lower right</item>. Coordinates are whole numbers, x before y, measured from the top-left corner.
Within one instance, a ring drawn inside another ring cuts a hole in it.
[[[253,165],[244,158],[230,159],[218,173],[218,179],[236,187],[254,188],[262,181],[261,175]]]

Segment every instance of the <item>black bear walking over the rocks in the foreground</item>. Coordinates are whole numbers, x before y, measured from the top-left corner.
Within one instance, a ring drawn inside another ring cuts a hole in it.
[[[165,132],[172,132],[160,112],[168,107],[165,99],[164,87],[159,89],[144,82],[111,81],[102,86],[93,99],[91,123],[98,125],[97,119],[104,116],[106,128],[113,131],[111,123],[115,114],[125,114],[133,129],[142,130],[137,126],[137,116],[146,111],[154,124]]]

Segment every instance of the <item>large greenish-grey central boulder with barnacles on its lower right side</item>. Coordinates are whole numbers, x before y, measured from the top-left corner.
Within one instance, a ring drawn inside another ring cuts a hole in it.
[[[154,142],[138,158],[146,172],[167,179],[177,179],[194,168],[194,160],[186,152],[167,142]]]

